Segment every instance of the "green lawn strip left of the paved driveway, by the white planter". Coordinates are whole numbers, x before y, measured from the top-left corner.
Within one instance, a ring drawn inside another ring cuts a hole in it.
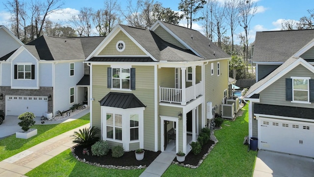
[[[89,114],[86,114],[71,122],[51,125],[33,125],[31,128],[37,128],[37,136],[27,140],[15,138],[15,134],[8,136],[0,140],[0,161],[88,122]]]

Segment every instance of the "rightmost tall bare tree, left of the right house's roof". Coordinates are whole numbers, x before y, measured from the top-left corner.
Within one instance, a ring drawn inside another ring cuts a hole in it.
[[[241,0],[239,3],[239,25],[244,29],[245,32],[245,58],[246,64],[248,64],[248,47],[249,47],[249,27],[252,17],[257,11],[257,4],[253,0]]]

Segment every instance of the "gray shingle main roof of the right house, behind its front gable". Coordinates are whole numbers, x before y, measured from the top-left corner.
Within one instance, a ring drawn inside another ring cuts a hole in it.
[[[256,32],[254,62],[285,62],[314,38],[314,29]]]

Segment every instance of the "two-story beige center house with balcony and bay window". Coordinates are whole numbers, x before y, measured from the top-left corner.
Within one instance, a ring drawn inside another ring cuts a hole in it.
[[[150,29],[117,25],[85,60],[91,126],[126,151],[186,153],[229,98],[229,59],[193,29],[161,21]]]

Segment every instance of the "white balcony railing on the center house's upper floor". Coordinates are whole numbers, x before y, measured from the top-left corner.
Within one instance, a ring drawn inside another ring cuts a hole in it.
[[[162,88],[159,86],[159,102],[186,105],[187,102],[196,99],[201,94],[203,94],[203,82],[185,89]]]

